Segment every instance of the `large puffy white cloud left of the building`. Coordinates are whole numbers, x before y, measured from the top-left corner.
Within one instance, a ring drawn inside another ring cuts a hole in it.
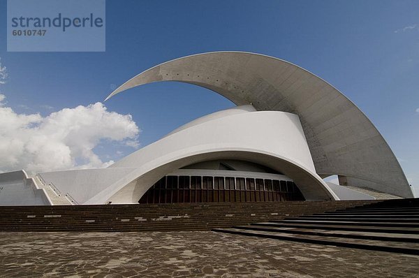
[[[138,146],[140,129],[131,115],[109,112],[102,103],[42,117],[18,114],[4,100],[0,94],[0,172],[101,168],[113,163],[94,153],[103,140]]]

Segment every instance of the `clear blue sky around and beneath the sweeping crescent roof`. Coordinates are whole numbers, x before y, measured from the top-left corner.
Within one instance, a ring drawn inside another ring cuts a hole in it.
[[[133,75],[177,57],[258,52],[302,66],[348,96],[419,192],[419,1],[107,0],[105,52],[7,52],[6,0],[0,0],[0,20],[1,64],[8,71],[0,92],[17,114],[47,117],[103,101]],[[144,146],[233,103],[207,89],[162,82],[105,106],[132,115]],[[105,161],[133,150],[101,142],[94,152]]]

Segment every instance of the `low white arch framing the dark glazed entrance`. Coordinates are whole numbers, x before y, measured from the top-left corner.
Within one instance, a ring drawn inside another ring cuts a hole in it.
[[[154,163],[152,167],[146,165],[125,175],[121,180],[115,182],[98,193],[94,198],[87,200],[84,204],[96,203],[137,203],[145,192],[167,173],[187,166],[191,163],[210,161],[214,159],[237,159],[253,163],[260,163],[263,166],[281,171],[297,184],[306,200],[339,200],[339,197],[330,189],[328,184],[323,182],[321,177],[305,168],[300,163],[289,158],[272,154],[260,149],[243,149],[240,147],[218,147],[209,149],[189,149],[188,152],[179,153],[171,160],[165,158]],[[156,164],[158,166],[156,166]]]

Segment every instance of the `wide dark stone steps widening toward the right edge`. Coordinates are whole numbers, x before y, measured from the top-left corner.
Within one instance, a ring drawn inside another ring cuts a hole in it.
[[[419,198],[383,200],[212,231],[419,255]]]

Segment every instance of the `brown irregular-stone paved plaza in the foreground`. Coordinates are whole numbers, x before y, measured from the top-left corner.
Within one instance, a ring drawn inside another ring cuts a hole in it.
[[[419,277],[419,256],[209,231],[0,233],[1,277]]]

